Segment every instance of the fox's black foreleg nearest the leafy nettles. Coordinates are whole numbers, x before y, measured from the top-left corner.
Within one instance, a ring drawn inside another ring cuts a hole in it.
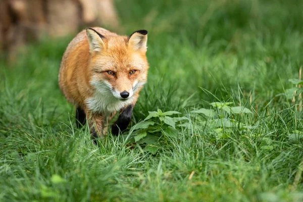
[[[133,105],[129,105],[122,111],[122,113],[119,115],[118,120],[112,126],[112,134],[118,135],[119,129],[121,131],[124,131],[127,128],[132,117],[132,110]]]

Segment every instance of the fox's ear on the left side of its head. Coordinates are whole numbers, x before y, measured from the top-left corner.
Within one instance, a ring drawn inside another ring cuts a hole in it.
[[[105,37],[92,28],[86,28],[86,35],[89,43],[89,52],[101,52],[105,47]]]

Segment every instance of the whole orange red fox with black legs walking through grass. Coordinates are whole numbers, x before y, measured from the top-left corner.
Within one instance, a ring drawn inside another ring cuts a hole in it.
[[[88,124],[92,137],[107,134],[108,122],[120,111],[112,134],[127,128],[139,91],[146,83],[147,31],[120,36],[100,27],[81,31],[69,43],[59,71],[59,85],[76,106],[76,123]]]

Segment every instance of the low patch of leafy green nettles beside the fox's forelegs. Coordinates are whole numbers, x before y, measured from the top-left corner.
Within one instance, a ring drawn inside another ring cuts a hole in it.
[[[252,115],[245,107],[230,107],[233,104],[215,102],[211,103],[213,109],[201,108],[192,110],[188,116],[180,116],[180,112],[168,111],[149,112],[149,115],[134,125],[129,132],[133,137],[130,141],[145,146],[151,154],[167,142],[167,138],[177,138],[182,131],[191,130],[199,133],[208,133],[213,136],[211,141],[220,141],[228,138],[231,128],[237,127],[239,131],[245,132],[253,126],[240,122],[237,116]]]

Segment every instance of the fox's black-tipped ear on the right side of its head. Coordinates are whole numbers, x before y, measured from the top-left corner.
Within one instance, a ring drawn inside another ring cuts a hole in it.
[[[147,31],[138,30],[128,37],[128,46],[132,47],[135,51],[146,52]]]

